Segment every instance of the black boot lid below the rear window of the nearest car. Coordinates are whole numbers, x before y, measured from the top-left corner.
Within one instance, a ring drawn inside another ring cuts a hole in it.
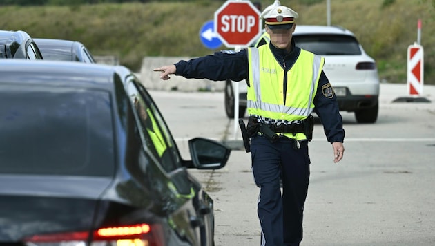
[[[90,231],[111,178],[0,176],[0,243],[57,231]]]

